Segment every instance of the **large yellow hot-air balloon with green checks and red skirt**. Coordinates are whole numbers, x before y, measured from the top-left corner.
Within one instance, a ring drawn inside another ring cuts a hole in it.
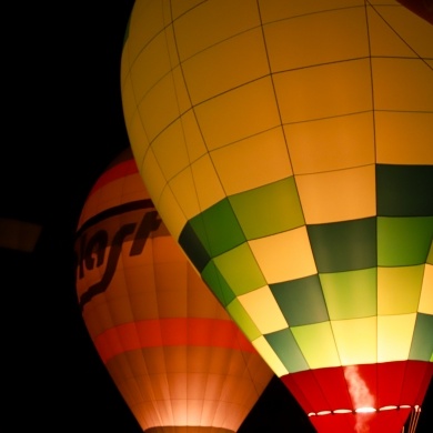
[[[396,1],[137,0],[134,159],[323,432],[400,432],[433,352],[433,27]]]

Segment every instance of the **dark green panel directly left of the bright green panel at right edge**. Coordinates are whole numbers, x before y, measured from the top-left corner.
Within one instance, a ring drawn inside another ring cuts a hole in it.
[[[306,225],[319,273],[355,271],[376,265],[376,220]]]

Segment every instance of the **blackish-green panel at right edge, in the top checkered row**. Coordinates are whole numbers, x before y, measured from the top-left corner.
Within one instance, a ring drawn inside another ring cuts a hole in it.
[[[377,164],[376,191],[377,215],[433,215],[433,165]]]

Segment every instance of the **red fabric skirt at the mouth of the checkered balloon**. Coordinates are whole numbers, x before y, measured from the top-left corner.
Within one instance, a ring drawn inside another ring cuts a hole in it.
[[[432,374],[432,363],[402,361],[310,370],[281,379],[320,433],[363,431],[356,425],[370,432],[400,432],[410,411],[421,405]]]

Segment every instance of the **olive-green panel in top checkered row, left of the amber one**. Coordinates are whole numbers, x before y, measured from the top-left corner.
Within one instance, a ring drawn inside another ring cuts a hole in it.
[[[229,198],[248,240],[304,224],[294,178],[288,178]]]

